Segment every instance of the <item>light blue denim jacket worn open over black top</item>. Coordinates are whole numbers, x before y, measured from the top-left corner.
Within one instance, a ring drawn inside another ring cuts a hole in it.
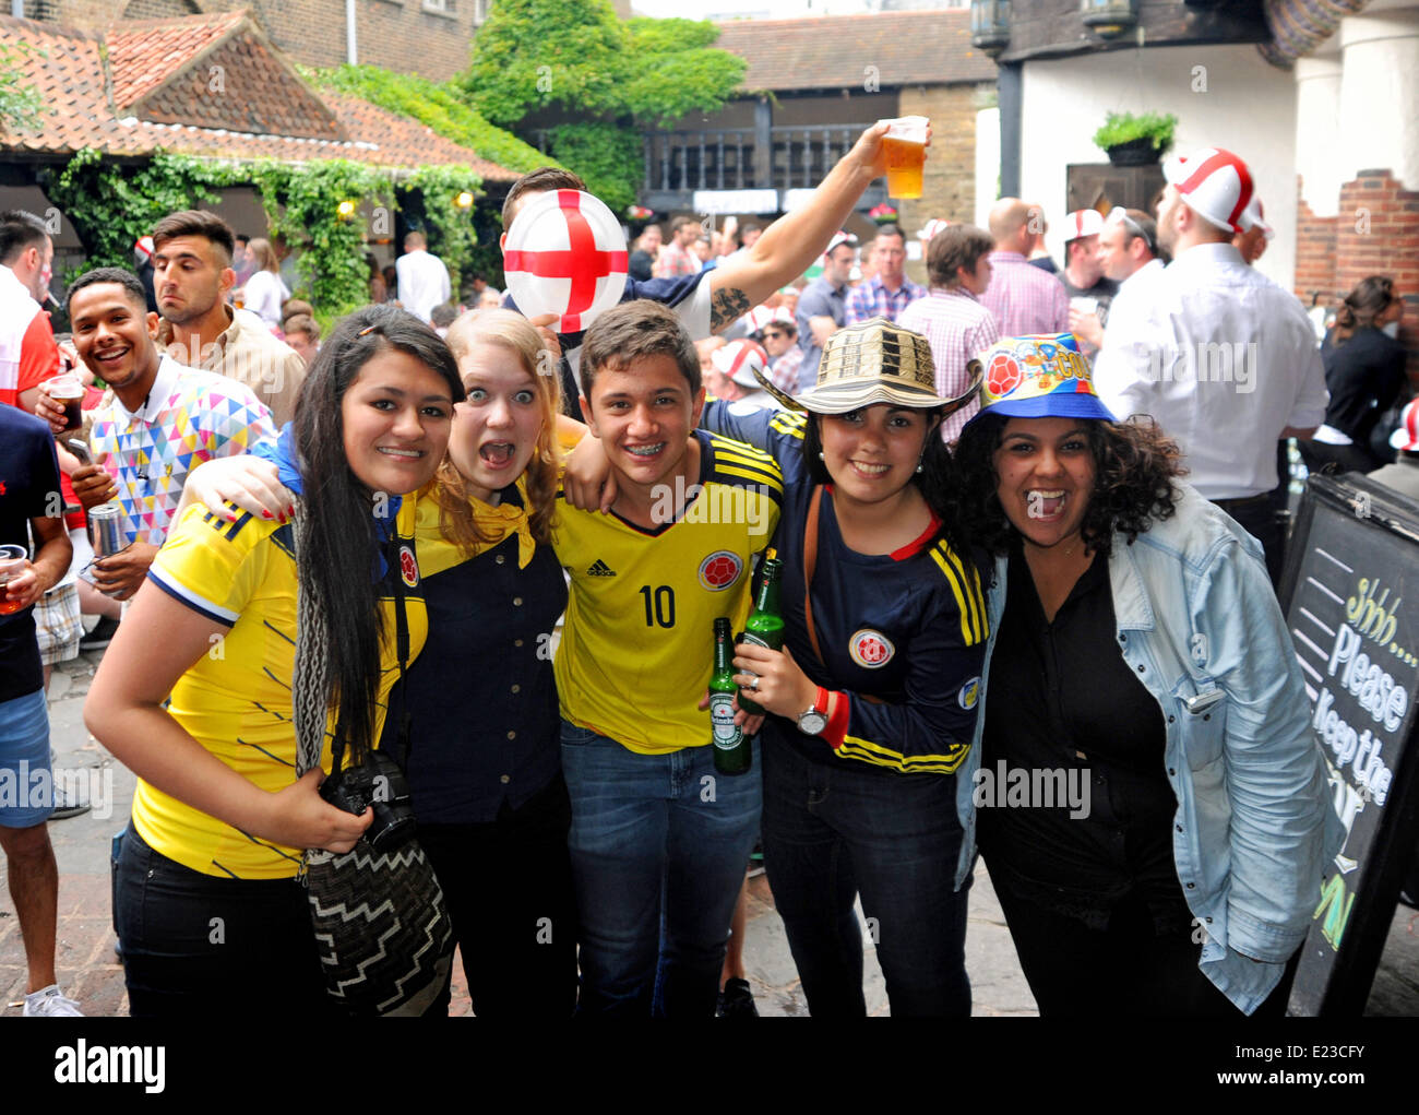
[[[1250,1014],[1305,939],[1344,830],[1261,547],[1193,489],[1178,489],[1172,518],[1132,545],[1114,535],[1108,577],[1120,652],[1165,720],[1174,861],[1203,942],[1199,967]],[[975,862],[972,790],[1005,588],[1002,557],[975,746],[956,790],[966,834],[956,886]]]

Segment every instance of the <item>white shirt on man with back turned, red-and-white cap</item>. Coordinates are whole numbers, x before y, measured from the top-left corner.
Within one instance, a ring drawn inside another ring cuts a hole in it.
[[[1188,249],[1144,284],[1147,297],[1110,310],[1094,361],[1104,405],[1118,419],[1152,415],[1209,500],[1270,491],[1281,430],[1320,426],[1330,401],[1300,301],[1220,243]]]

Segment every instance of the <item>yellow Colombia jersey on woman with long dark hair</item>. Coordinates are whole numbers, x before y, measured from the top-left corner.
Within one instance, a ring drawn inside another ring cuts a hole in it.
[[[400,575],[409,616],[410,659],[427,633],[419,595],[413,541],[416,499],[399,508]],[[295,723],[291,672],[295,666],[295,555],[291,526],[243,514],[236,523],[189,507],[158,551],[149,577],[170,597],[230,628],[210,653],[177,680],[169,712],[193,739],[243,777],[275,793],[295,781]],[[380,705],[399,678],[394,659],[394,598],[385,611]],[[329,770],[329,737],[322,761]],[[280,879],[297,874],[301,852],[251,837],[194,810],[142,778],[133,794],[133,824],[158,852],[204,875]]]

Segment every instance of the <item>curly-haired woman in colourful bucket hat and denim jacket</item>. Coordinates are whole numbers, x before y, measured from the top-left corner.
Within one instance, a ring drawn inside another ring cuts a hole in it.
[[[1260,547],[1175,442],[1114,420],[1070,334],[983,362],[956,447],[996,565],[966,793],[1040,1013],[1281,1013],[1341,830]]]

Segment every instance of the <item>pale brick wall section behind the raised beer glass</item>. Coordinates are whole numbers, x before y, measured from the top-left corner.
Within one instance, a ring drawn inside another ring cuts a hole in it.
[[[894,202],[908,236],[932,217],[952,223],[975,216],[975,114],[979,89],[990,85],[915,85],[900,94],[898,112],[904,116],[931,118],[931,151],[922,175],[921,199]],[[927,281],[925,261],[912,261],[907,274],[917,283]]]

